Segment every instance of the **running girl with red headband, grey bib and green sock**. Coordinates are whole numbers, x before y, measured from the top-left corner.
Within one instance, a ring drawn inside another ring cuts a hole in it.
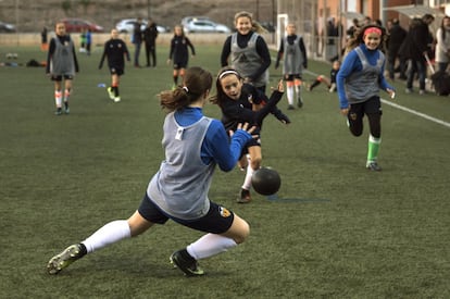
[[[347,55],[337,73],[340,111],[347,116],[351,134],[361,136],[363,117],[368,120],[368,150],[366,167],[380,171],[378,151],[382,144],[382,102],[379,89],[391,98],[395,88],[384,76],[386,58],[382,52],[385,29],[376,25],[363,27],[349,40]]]

